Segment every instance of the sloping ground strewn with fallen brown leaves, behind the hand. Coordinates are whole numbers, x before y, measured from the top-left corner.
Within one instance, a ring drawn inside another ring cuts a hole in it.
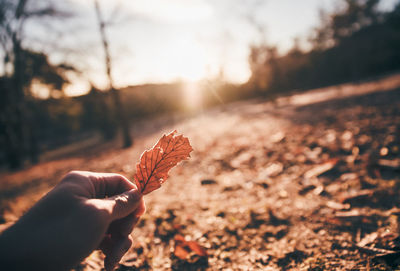
[[[131,178],[140,153],[177,129],[192,158],[146,195],[119,270],[398,268],[399,83],[390,77],[137,124],[132,148],[99,146],[2,172],[0,218],[17,219],[72,169]],[[101,268],[94,252],[76,270]]]

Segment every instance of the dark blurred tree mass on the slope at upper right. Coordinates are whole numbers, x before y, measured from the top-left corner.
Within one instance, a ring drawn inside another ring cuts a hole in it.
[[[265,85],[269,95],[354,82],[398,70],[400,4],[384,12],[377,9],[378,2],[343,0],[342,9],[323,13],[314,48],[309,52],[302,52],[296,43],[286,55],[278,55],[270,46],[251,48],[249,83],[254,83],[254,88]]]

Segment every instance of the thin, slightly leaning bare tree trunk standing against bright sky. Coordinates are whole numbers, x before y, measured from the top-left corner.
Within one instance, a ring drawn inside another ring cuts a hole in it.
[[[105,57],[104,63],[105,63],[105,67],[106,67],[106,75],[108,78],[108,88],[111,92],[111,95],[112,95],[112,98],[114,101],[114,107],[115,107],[117,121],[121,128],[123,147],[127,148],[132,145],[132,139],[131,139],[131,136],[129,133],[128,119],[124,112],[124,108],[123,108],[123,105],[121,102],[121,98],[119,96],[119,92],[114,87],[114,80],[113,80],[113,76],[112,76],[111,54],[110,54],[110,49],[109,49],[109,40],[106,35],[107,22],[104,20],[104,18],[102,16],[98,0],[94,0],[94,7],[96,10],[97,23],[99,26],[99,32],[100,32],[101,41],[102,41],[102,45],[103,45],[103,49],[104,49],[104,57]]]

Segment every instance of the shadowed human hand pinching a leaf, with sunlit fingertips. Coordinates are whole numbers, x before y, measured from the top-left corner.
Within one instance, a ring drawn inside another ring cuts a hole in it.
[[[142,195],[119,174],[73,171],[0,235],[0,266],[68,270],[95,249],[113,270],[145,212]]]

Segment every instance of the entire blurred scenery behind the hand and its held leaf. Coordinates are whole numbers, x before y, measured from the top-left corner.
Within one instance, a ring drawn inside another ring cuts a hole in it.
[[[0,231],[177,129],[118,270],[398,270],[399,49],[400,0],[0,0]]]

